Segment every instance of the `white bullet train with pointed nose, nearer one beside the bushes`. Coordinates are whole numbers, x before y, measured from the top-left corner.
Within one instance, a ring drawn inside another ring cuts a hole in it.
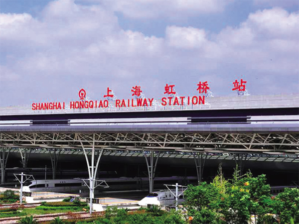
[[[175,194],[175,190],[172,191]],[[181,194],[182,191],[178,191],[178,195]],[[154,191],[149,193],[149,195],[143,198],[138,204],[141,207],[149,207],[150,205],[157,205],[157,206],[175,206],[175,197],[171,194],[168,190],[163,191]],[[182,204],[184,201],[184,195],[181,194],[178,197],[178,205]]]

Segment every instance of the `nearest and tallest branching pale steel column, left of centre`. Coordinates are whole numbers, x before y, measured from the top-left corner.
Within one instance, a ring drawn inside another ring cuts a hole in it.
[[[89,176],[89,206],[90,206],[90,214],[92,213],[92,199],[94,197],[94,183],[96,180],[96,174],[98,171],[98,167],[100,164],[101,157],[103,155],[104,149],[99,149],[100,153],[98,155],[97,163],[95,166],[95,134],[93,134],[93,141],[92,141],[92,151],[91,151],[91,162],[88,159],[88,153],[86,151],[86,147],[83,145],[80,137],[78,137],[85,155],[87,168],[88,168],[88,176]]]

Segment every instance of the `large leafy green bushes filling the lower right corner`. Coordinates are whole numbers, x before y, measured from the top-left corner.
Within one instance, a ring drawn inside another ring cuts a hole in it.
[[[265,175],[240,176],[238,168],[232,180],[225,180],[220,168],[212,183],[188,186],[185,199],[192,224],[299,223],[299,189],[285,188],[271,197]]]

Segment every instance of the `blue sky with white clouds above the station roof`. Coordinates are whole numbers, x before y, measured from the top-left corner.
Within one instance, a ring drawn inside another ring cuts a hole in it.
[[[299,93],[298,0],[0,0],[0,106]]]

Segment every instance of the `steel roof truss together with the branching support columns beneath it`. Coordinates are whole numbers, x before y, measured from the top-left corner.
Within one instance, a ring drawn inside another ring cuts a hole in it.
[[[83,149],[88,166],[90,186],[92,188],[94,184],[93,180],[96,179],[97,169],[104,150],[144,151],[146,152],[144,153],[144,156],[148,166],[149,190],[151,192],[153,190],[154,173],[160,152],[193,152],[198,182],[200,182],[202,179],[204,161],[207,158],[207,153],[230,152],[234,154],[268,153],[297,155],[299,154],[299,133],[296,131],[287,133],[230,133],[229,131],[212,132],[212,130],[208,133],[175,133],[173,131],[167,133],[144,133],[138,131],[0,132],[0,147],[37,148],[39,150],[45,148],[55,150],[58,149],[59,152],[61,152],[63,149],[70,149],[74,151]],[[88,158],[89,151],[91,152],[91,162],[89,162]],[[100,151],[100,155],[95,164],[94,159],[96,151]],[[154,151],[158,154],[155,155]],[[204,160],[203,153],[205,154]],[[52,163],[54,163],[53,168],[55,168],[56,160],[52,160]],[[241,160],[243,160],[243,156]],[[2,159],[3,164],[4,162],[6,161]],[[1,169],[1,172],[4,169]],[[90,195],[93,195],[92,191],[90,192]]]

